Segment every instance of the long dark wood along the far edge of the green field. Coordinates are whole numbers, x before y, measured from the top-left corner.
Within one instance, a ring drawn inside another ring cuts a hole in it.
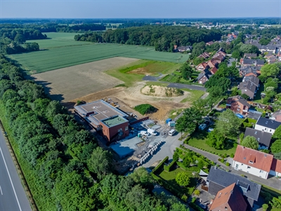
[[[187,46],[200,41],[221,39],[221,31],[195,27],[144,25],[126,29],[107,30],[103,34],[85,33],[74,37],[77,41],[107,42],[155,46],[156,51],[173,51],[174,45]]]

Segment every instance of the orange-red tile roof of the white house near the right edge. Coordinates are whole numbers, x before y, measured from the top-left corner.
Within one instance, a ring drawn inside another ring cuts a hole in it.
[[[250,160],[253,161],[253,158],[255,158],[254,163],[249,162]],[[259,170],[270,172],[273,155],[238,145],[233,160],[255,167]]]

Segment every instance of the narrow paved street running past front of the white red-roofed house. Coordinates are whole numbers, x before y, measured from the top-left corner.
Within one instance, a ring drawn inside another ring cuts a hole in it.
[[[194,151],[195,153],[200,153],[201,155],[203,155],[204,157],[208,158],[211,161],[214,161],[214,162],[218,163],[218,165],[221,165],[221,167],[223,167],[225,170],[230,170],[230,172],[233,173],[233,174],[237,174],[237,175],[243,174],[244,176],[247,177],[247,179],[249,179],[251,181],[255,181],[256,183],[263,184],[263,185],[268,186],[270,188],[274,188],[278,191],[281,191],[281,181],[279,179],[277,179],[276,177],[270,177],[268,179],[262,179],[261,177],[256,177],[252,174],[248,174],[247,172],[235,170],[233,167],[228,167],[228,166],[224,165],[223,163],[218,162],[218,158],[220,158],[218,155],[214,155],[212,153],[202,151],[198,148],[195,148],[195,147],[190,146],[190,145],[185,144],[185,143],[183,144],[183,146],[185,148],[188,148],[188,149]],[[232,165],[232,163],[230,163],[230,165]]]

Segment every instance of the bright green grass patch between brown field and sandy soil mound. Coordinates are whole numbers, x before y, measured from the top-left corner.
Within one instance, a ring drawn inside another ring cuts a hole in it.
[[[116,77],[124,82],[125,87],[131,87],[135,82],[141,82],[145,76],[145,72],[169,72],[174,71],[178,64],[168,63],[168,62],[159,62],[159,61],[149,61],[149,60],[137,60],[136,62],[125,65],[121,68],[114,68],[112,70],[107,70],[105,73]],[[158,68],[157,68],[158,67]],[[143,68],[145,71],[134,72],[138,68]],[[166,87],[168,84],[161,82],[147,82],[149,85],[158,85]]]

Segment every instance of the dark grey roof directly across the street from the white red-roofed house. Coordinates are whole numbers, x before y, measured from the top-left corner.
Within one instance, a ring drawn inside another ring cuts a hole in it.
[[[207,181],[212,181],[218,185],[221,185],[223,187],[230,186],[230,184],[237,184],[242,189],[242,194],[248,198],[252,198],[254,200],[258,200],[259,198],[259,192],[261,191],[261,185],[256,184],[253,181],[250,181],[249,179],[246,179],[244,177],[240,177],[236,174],[231,174],[229,172],[220,170],[215,167],[211,167],[211,170],[209,172],[209,175],[207,177]],[[244,186],[247,186],[249,188],[247,191],[243,190]]]

